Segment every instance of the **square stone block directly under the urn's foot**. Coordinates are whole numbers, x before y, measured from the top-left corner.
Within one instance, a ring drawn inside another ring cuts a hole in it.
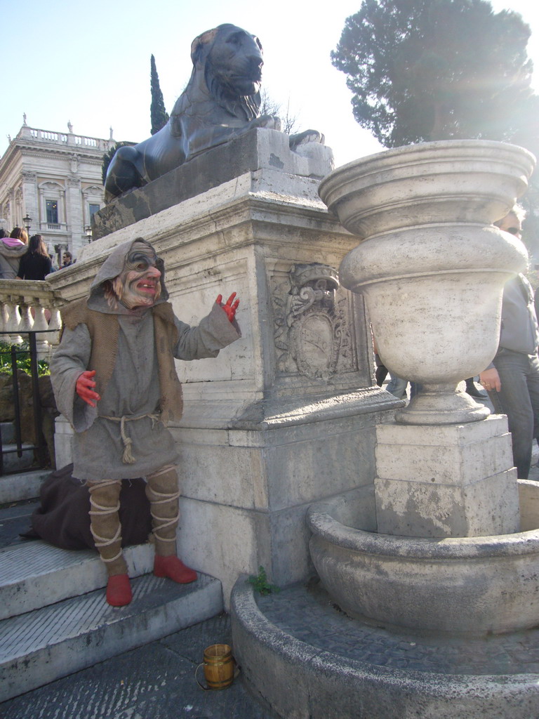
[[[464,537],[520,531],[505,416],[466,425],[377,427],[378,531]]]

